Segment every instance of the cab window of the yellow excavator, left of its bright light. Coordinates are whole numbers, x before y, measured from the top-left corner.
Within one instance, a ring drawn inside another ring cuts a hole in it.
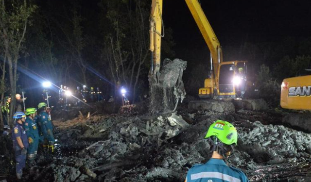
[[[234,77],[234,64],[226,64],[220,66],[219,71],[219,92],[231,93],[233,92],[232,79]]]

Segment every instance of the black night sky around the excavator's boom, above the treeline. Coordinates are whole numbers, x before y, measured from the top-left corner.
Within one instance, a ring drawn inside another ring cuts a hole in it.
[[[310,36],[308,0],[201,0],[201,6],[224,48],[245,41],[277,42],[288,36]],[[163,16],[165,26],[173,29],[177,57],[184,56],[184,50],[206,47],[184,0],[164,0]]]

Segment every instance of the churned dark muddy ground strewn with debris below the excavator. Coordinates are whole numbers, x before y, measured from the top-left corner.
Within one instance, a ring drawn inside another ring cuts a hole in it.
[[[186,101],[176,113],[149,116],[146,107],[138,104],[136,112],[123,115],[106,104],[86,107],[82,115],[74,108],[55,111],[55,152],[40,148],[36,165],[26,169],[22,181],[183,182],[192,165],[207,162],[209,144],[203,137],[217,119],[237,127],[238,146],[227,162],[250,181],[311,181],[311,134],[284,122],[293,113],[198,111],[188,109]],[[1,136],[0,145],[0,182],[14,182],[9,136]]]

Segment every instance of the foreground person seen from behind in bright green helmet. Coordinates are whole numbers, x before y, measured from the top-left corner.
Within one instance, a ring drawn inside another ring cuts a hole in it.
[[[185,182],[249,182],[245,174],[225,164],[238,141],[236,128],[218,120],[209,126],[205,138],[210,143],[211,158],[206,164],[193,165]]]

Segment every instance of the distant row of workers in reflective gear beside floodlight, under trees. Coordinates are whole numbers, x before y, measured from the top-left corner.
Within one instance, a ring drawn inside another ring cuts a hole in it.
[[[72,100],[69,100],[69,96],[66,94],[66,91],[69,91],[69,87],[60,85],[59,89],[59,101],[60,103],[66,103],[70,104]],[[83,88],[81,89],[80,86],[77,86],[77,89],[74,92],[74,96],[77,98],[75,99],[75,103],[79,105],[81,101],[84,102],[96,102],[101,101],[104,99],[104,95],[99,87],[94,90],[94,87],[91,87],[90,90],[86,87],[86,85],[83,85]]]

